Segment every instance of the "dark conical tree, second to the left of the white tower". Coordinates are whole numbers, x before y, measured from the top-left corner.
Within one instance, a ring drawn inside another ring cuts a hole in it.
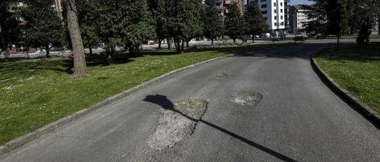
[[[244,18],[241,16],[239,8],[236,2],[232,2],[230,6],[230,13],[227,14],[225,19],[226,35],[231,37],[236,43],[236,38],[241,36],[245,32]]]

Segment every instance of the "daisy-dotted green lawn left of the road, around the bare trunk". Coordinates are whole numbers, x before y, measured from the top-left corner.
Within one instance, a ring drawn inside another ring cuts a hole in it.
[[[101,64],[103,57],[87,58],[91,76],[86,78],[70,78],[70,59],[1,62],[0,145],[172,70],[270,46],[213,48],[180,55],[150,51],[138,58],[116,59],[112,65]]]

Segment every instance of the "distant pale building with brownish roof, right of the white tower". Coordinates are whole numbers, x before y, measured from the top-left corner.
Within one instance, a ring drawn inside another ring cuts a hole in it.
[[[294,32],[300,32],[305,30],[305,23],[310,21],[306,16],[305,7],[302,5],[291,6],[290,9],[290,25],[291,30]]]

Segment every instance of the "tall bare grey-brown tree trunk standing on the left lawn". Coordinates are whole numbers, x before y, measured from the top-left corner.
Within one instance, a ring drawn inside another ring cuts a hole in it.
[[[84,47],[79,31],[78,12],[75,6],[75,0],[63,0],[67,9],[67,26],[70,33],[71,45],[73,47],[74,59],[74,76],[86,75],[86,58],[84,55]]]

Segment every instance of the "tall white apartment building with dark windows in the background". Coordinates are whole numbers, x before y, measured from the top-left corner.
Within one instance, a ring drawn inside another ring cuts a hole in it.
[[[249,2],[252,2],[250,0]],[[248,2],[248,3],[249,3]],[[285,34],[289,25],[290,0],[256,0],[264,19],[268,23],[269,30],[276,36]]]

